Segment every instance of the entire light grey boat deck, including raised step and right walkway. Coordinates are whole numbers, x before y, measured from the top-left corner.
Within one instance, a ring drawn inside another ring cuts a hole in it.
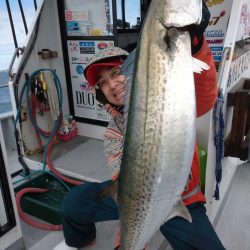
[[[41,159],[41,155],[31,157]],[[59,143],[53,148],[53,163],[64,173],[92,181],[110,179],[101,140],[77,137],[68,143]],[[224,204],[221,216],[215,225],[216,231],[227,250],[250,249],[250,163],[238,167]],[[118,221],[97,223],[96,243],[84,249],[111,250],[114,246]],[[8,250],[49,250],[63,240],[62,232],[49,232],[21,222],[25,248],[12,246]],[[148,250],[171,249],[160,232],[148,244]]]

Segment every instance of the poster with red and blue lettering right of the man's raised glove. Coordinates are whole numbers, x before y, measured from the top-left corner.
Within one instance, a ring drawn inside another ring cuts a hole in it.
[[[206,3],[211,13],[211,18],[205,31],[205,37],[214,60],[219,62],[223,52],[232,0],[207,0]]]

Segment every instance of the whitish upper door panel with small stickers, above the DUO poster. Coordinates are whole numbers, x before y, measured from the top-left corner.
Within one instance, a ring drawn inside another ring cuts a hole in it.
[[[68,36],[112,36],[111,0],[66,1]]]

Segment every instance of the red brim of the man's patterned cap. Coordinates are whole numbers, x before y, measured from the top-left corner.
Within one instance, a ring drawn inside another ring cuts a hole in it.
[[[113,58],[113,60],[107,62],[93,63],[86,69],[85,78],[90,86],[95,86],[97,82],[98,73],[101,69],[103,69],[103,67],[116,67],[120,66],[121,64],[122,61],[117,58]]]

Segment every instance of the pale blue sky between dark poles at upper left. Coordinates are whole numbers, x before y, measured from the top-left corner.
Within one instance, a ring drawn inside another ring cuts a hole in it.
[[[33,0],[22,0],[26,23],[29,29],[35,8]],[[37,1],[39,2],[39,1]],[[26,37],[25,29],[17,0],[9,0],[14,22],[17,43],[22,47]],[[15,46],[8,17],[6,1],[0,0],[0,70],[7,69],[14,53]]]

